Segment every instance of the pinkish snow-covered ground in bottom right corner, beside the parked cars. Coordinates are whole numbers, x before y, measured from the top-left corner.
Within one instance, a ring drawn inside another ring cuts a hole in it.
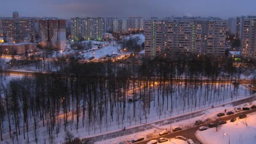
[[[216,128],[209,128],[205,131],[197,131],[196,136],[204,144],[256,144],[256,112],[247,115],[247,118],[235,122],[227,121],[227,124]],[[246,123],[248,125],[246,125]],[[228,135],[224,135],[227,133]]]

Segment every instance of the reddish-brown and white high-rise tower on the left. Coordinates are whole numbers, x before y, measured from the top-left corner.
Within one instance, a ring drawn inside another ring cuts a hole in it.
[[[66,21],[59,19],[39,20],[40,44],[43,47],[66,48]]]

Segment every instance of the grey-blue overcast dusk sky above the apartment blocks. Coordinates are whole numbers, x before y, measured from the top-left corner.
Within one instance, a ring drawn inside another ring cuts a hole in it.
[[[127,17],[256,15],[256,0],[0,0],[0,17]]]

